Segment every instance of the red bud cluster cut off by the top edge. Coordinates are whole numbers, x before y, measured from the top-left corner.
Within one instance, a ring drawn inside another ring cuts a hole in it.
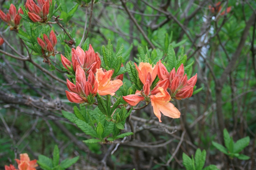
[[[45,22],[49,14],[49,0],[37,0],[38,5],[33,0],[27,0],[25,7],[29,11],[28,17],[33,22]],[[51,0],[50,0],[51,2]]]

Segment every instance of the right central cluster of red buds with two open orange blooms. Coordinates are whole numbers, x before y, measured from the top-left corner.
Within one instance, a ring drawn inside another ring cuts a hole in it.
[[[191,97],[197,75],[187,81],[183,64],[177,70],[177,74],[175,74],[175,68],[169,74],[161,61],[157,62],[154,67],[149,63],[143,62],[139,64],[139,67],[135,64],[135,67],[140,81],[143,83],[143,89],[141,91],[137,90],[135,95],[123,96],[123,99],[131,106],[137,105],[140,101],[151,102],[154,114],[159,119],[159,122],[161,122],[161,112],[170,118],[179,118],[181,113],[170,101],[172,98]],[[157,75],[160,81],[151,88],[152,82]]]

